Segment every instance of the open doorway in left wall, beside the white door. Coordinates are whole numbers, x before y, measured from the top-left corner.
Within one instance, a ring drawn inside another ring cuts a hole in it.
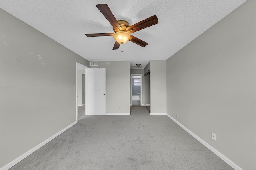
[[[85,69],[83,64],[76,63],[76,120],[85,116]]]

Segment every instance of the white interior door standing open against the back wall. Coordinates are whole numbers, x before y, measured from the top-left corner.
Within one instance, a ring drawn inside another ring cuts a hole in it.
[[[106,115],[106,68],[88,68],[86,76],[86,115]]]

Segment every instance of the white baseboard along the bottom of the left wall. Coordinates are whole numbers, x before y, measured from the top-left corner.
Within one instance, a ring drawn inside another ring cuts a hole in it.
[[[70,125],[68,125],[67,127],[65,127],[64,129],[62,129],[61,131],[57,132],[56,134],[52,135],[51,137],[49,137],[48,139],[46,139],[45,141],[43,141],[42,143],[40,143],[39,145],[35,146],[34,148],[28,150],[28,152],[22,154],[21,156],[19,156],[18,158],[14,159],[12,162],[6,164],[5,166],[3,166],[2,168],[0,168],[0,170],[8,170],[10,168],[12,168],[12,166],[16,165],[18,162],[20,162],[21,160],[23,160],[24,158],[26,158],[27,156],[29,156],[30,154],[32,154],[33,152],[35,152],[36,150],[40,149],[42,146],[44,146],[46,143],[50,142],[52,139],[56,138],[58,135],[60,135],[61,133],[63,133],[64,131],[66,131],[67,129],[69,129],[70,127],[72,127],[73,125],[75,125],[77,123],[77,121],[75,121],[74,123],[71,123]]]

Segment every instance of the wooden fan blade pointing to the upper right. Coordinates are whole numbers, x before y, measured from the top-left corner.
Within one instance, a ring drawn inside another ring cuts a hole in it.
[[[154,15],[154,16],[151,16],[143,21],[135,23],[134,25],[128,27],[126,30],[128,31],[128,30],[132,29],[132,31],[130,33],[135,33],[136,31],[140,31],[141,29],[150,27],[157,23],[158,23],[158,19],[157,19],[156,15]]]

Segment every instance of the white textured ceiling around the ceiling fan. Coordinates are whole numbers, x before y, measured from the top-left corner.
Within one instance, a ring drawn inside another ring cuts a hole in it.
[[[168,59],[245,1],[0,0],[0,8],[89,61],[130,60],[131,65],[142,64],[141,69],[150,60]],[[121,52],[121,46],[112,50],[112,36],[86,37],[113,32],[96,4],[108,4],[117,20],[130,25],[156,14],[158,24],[132,34],[148,45],[128,41]]]

